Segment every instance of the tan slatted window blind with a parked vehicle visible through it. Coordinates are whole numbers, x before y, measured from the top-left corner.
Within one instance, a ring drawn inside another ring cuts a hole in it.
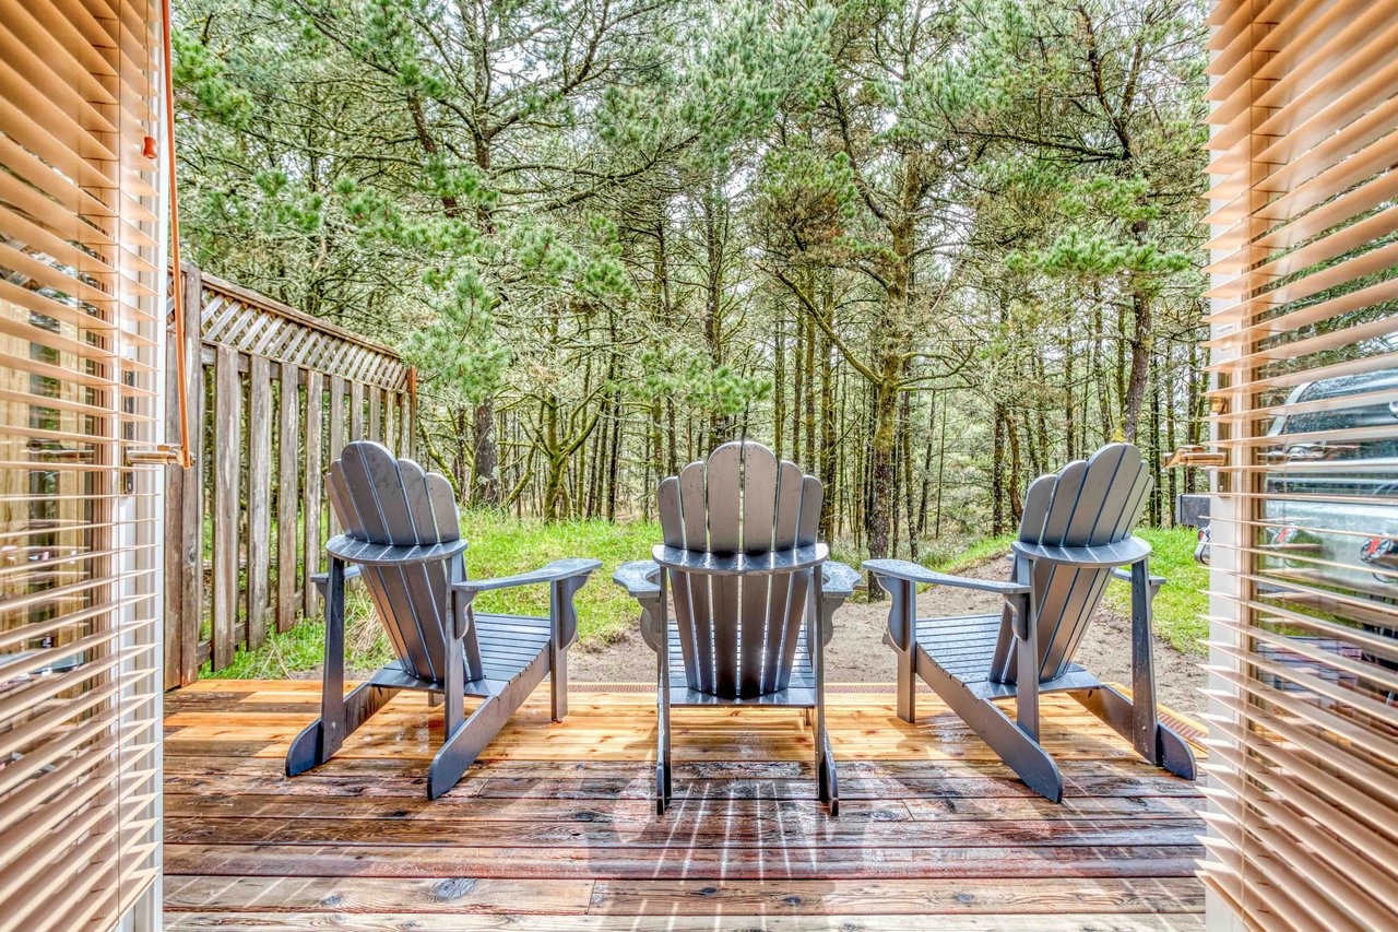
[[[1202,876],[1398,928],[1398,3],[1211,13],[1216,477]]]

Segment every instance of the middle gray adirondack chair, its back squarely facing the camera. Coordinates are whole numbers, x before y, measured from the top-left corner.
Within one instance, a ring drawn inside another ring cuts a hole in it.
[[[763,705],[814,712],[818,791],[837,814],[822,654],[858,574],[816,543],[819,480],[742,441],[661,481],[657,498],[664,543],[612,577],[640,603],[657,658],[657,812],[672,796],[671,707]]]

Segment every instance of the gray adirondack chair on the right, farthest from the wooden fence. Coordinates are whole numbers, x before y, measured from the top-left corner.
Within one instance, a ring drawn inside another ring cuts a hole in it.
[[[1165,581],[1149,575],[1151,546],[1131,535],[1151,481],[1128,444],[1040,476],[1025,497],[1009,582],[867,561],[864,570],[893,596],[885,641],[898,655],[899,716],[916,721],[920,676],[1030,788],[1058,802],[1062,775],[1039,743],[1039,697],[1065,691],[1148,761],[1192,779],[1194,754],[1160,723],[1155,704],[1151,602]],[[1130,698],[1072,662],[1113,577],[1131,582]],[[995,592],[1005,606],[997,614],[917,619],[917,584]],[[1015,721],[995,704],[1002,698],[1015,698]]]

